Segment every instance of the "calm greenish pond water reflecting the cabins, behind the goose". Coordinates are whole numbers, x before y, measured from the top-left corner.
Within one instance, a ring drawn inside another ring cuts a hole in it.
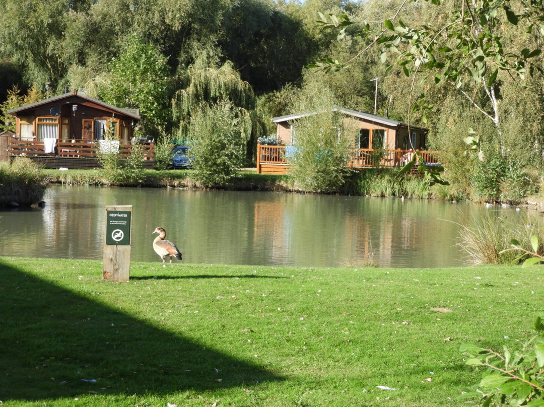
[[[183,262],[274,266],[453,267],[460,226],[482,211],[468,203],[154,188],[47,189],[46,207],[0,212],[0,254],[102,259],[104,206],[132,205],[132,261],[160,262],[162,226]]]

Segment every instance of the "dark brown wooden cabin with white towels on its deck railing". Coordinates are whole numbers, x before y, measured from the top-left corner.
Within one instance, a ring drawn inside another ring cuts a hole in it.
[[[140,121],[138,109],[121,109],[81,91],[53,96],[7,113],[16,118],[8,157],[27,156],[46,168],[100,167],[96,156],[104,148],[128,156],[134,128]],[[154,144],[143,144],[146,167],[151,167]]]

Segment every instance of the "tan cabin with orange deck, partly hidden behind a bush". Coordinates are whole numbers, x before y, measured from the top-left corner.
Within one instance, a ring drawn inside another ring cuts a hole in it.
[[[426,151],[428,129],[391,120],[369,113],[341,107],[347,128],[354,128],[354,151],[350,167],[399,167],[410,161],[413,149],[422,152],[428,165],[438,165],[437,152]],[[257,145],[257,173],[286,174],[289,169],[289,150],[296,148],[296,121],[311,113],[291,114],[271,119],[276,124],[279,145]],[[312,113],[315,114],[315,113]]]

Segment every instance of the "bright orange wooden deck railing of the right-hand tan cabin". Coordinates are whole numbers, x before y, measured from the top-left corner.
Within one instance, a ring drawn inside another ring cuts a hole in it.
[[[263,166],[288,166],[290,152],[286,146],[257,145],[257,172],[262,172]],[[421,157],[429,167],[440,164],[438,151],[420,151]],[[354,149],[353,158],[349,166],[351,168],[368,167],[403,167],[413,157],[413,150],[373,150]],[[417,158],[419,161],[419,157]],[[277,171],[277,169],[274,172]]]

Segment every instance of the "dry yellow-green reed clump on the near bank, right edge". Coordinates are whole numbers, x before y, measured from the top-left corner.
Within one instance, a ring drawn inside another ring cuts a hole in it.
[[[522,223],[515,224],[489,211],[473,218],[471,225],[461,225],[458,245],[472,264],[510,264],[521,255],[518,250],[503,252],[511,248],[511,239],[516,239],[523,248],[530,251],[531,236],[537,236],[541,243],[544,241],[542,221],[531,215],[527,215]],[[539,254],[544,254],[542,244]]]

